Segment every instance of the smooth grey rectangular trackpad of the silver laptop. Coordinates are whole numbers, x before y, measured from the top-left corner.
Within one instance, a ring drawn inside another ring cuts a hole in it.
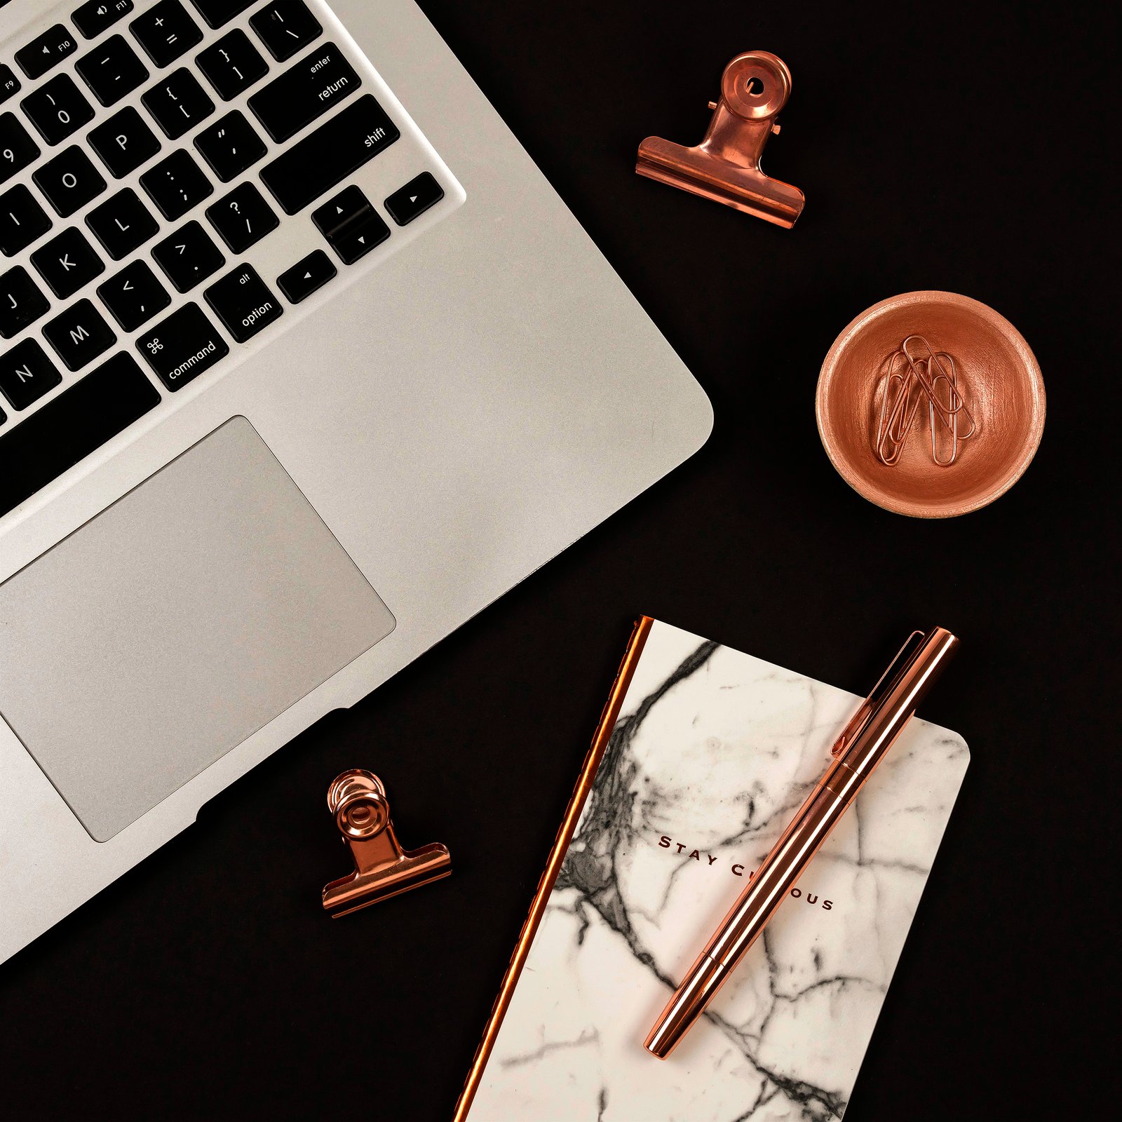
[[[105,842],[393,629],[234,417],[0,585],[0,714]]]

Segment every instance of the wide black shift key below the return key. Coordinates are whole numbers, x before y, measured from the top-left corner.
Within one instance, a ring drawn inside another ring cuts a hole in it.
[[[286,214],[295,214],[401,134],[373,94],[364,94],[261,168],[261,180]]]

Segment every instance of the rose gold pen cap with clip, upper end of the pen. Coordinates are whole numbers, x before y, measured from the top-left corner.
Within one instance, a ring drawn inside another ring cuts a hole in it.
[[[838,753],[847,769],[867,775],[876,766],[957,649],[958,640],[950,632],[932,627],[919,640],[894,677],[885,675],[866,702],[868,716]]]

